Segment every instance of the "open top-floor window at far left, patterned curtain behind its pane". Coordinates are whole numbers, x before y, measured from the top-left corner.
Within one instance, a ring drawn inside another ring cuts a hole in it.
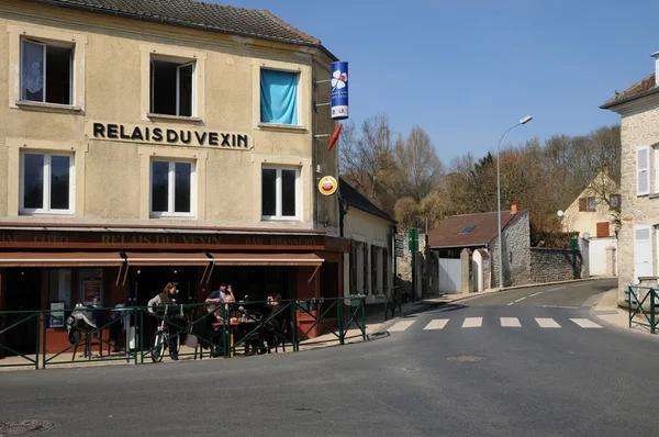
[[[74,44],[21,40],[21,100],[72,104]]]

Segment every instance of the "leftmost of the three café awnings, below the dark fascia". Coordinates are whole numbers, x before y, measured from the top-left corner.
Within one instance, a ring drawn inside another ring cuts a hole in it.
[[[0,267],[119,267],[119,253],[0,253]]]

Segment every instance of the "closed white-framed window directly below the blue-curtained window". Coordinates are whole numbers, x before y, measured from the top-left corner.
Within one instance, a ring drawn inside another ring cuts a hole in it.
[[[300,170],[264,167],[261,170],[261,215],[264,220],[298,220]]]

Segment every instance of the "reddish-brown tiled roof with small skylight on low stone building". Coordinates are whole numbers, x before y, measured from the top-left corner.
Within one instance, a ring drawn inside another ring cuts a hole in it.
[[[501,229],[503,231],[524,214],[526,214],[524,211],[516,213],[502,211]],[[471,226],[473,226],[473,229],[460,234],[460,231]],[[432,248],[487,246],[498,236],[496,211],[482,214],[454,215],[428,232],[428,244]]]

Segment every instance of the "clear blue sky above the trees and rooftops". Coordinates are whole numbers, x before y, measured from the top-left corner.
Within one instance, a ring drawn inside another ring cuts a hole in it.
[[[219,0],[268,9],[349,61],[350,121],[386,112],[439,157],[585,134],[599,109],[654,70],[659,2],[640,0]]]

